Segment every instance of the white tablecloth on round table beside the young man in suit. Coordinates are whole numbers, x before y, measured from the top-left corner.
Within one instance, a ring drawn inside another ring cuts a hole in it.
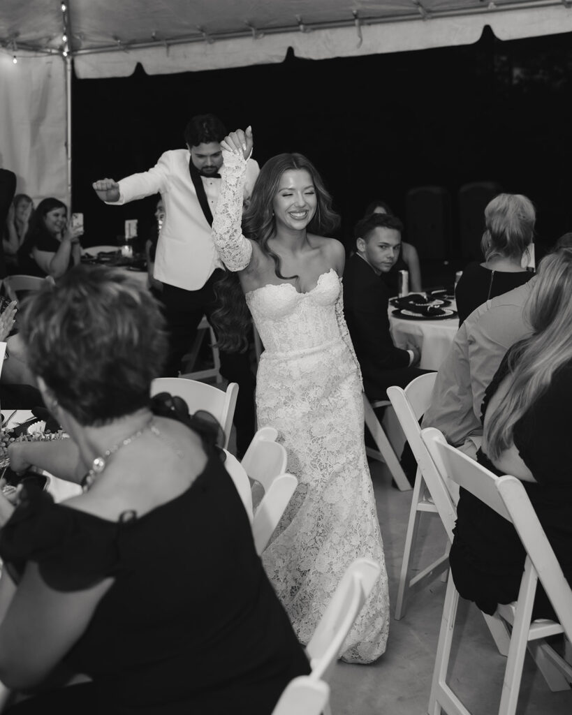
[[[458,315],[448,320],[405,320],[392,315],[393,310],[390,306],[390,328],[395,345],[403,348],[411,343],[417,345],[421,351],[419,367],[438,370],[459,329]]]

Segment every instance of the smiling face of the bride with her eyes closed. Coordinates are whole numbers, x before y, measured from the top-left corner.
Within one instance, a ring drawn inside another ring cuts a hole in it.
[[[280,177],[272,201],[276,227],[305,229],[314,217],[316,207],[316,190],[310,173],[306,169],[287,169]]]

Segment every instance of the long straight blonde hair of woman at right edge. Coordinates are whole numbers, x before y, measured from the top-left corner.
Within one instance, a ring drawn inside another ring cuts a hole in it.
[[[526,302],[532,335],[508,358],[508,392],[487,415],[488,456],[495,460],[513,443],[513,428],[548,390],[557,370],[572,360],[572,248],[546,256]]]

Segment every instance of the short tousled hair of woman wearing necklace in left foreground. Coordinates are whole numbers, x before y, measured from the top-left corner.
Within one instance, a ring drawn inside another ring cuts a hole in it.
[[[147,290],[121,270],[79,265],[24,307],[29,365],[82,425],[149,404],[167,355],[165,322]]]

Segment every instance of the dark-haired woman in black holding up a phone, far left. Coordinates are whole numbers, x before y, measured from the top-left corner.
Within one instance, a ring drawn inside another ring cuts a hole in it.
[[[39,202],[18,251],[19,271],[25,275],[59,278],[82,257],[83,228],[67,222],[66,204],[58,199]]]

